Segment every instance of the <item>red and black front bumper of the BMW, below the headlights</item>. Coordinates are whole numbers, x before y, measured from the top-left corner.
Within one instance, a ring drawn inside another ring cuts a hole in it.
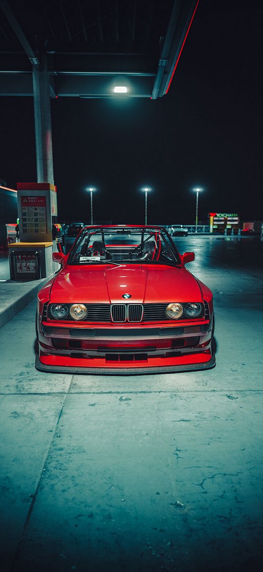
[[[157,374],[215,367],[211,322],[180,327],[94,328],[39,323],[39,371]]]

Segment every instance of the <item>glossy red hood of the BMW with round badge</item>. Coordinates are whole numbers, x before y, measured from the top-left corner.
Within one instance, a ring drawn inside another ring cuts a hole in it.
[[[123,294],[131,295],[124,299]],[[195,277],[183,268],[123,265],[66,266],[51,288],[53,303],[165,303],[199,302],[202,293]]]

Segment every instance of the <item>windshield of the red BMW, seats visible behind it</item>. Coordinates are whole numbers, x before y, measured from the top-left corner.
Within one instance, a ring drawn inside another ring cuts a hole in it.
[[[68,264],[180,264],[168,233],[157,227],[84,228]]]

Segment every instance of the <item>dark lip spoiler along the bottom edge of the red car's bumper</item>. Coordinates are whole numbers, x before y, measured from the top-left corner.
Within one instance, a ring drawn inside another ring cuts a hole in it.
[[[147,375],[172,374],[187,371],[211,370],[216,365],[216,356],[213,353],[211,360],[204,363],[182,364],[179,366],[108,368],[108,367],[74,367],[74,366],[47,366],[41,363],[39,356],[35,356],[35,367],[38,371],[56,374],[83,374],[83,375]]]

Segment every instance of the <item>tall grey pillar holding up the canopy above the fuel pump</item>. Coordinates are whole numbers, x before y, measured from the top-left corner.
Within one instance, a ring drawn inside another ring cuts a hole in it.
[[[50,86],[45,57],[41,70],[33,66],[33,94],[37,178],[38,182],[49,182],[53,185]]]

